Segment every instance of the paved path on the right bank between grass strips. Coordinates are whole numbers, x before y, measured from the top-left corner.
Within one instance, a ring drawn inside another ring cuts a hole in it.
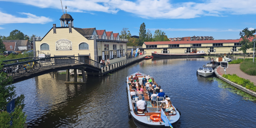
[[[225,74],[224,68],[218,67],[217,72],[222,75]],[[246,73],[242,72],[240,70],[240,64],[228,64],[228,68],[226,68],[226,73],[227,74],[236,74],[237,76],[244,78],[244,79],[249,79],[250,81],[254,82],[254,85],[256,85],[256,76],[250,76],[247,75]]]

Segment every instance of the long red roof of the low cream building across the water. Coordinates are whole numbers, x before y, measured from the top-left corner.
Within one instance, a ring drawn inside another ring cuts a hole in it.
[[[154,41],[144,42],[145,45],[156,45],[156,44],[211,44],[211,43],[239,43],[239,40],[208,40],[208,41]]]

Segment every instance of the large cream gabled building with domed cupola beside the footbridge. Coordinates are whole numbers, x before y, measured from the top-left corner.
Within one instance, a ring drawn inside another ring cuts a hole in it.
[[[43,38],[34,38],[34,51],[49,53],[52,57],[85,56],[98,62],[110,59],[115,63],[126,59],[128,40],[119,38],[118,33],[76,28],[69,14],[62,15],[60,20],[60,27],[53,24]]]

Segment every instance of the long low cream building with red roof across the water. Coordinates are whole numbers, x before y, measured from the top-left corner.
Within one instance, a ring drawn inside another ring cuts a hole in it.
[[[242,53],[239,51],[241,47],[238,40],[211,40],[211,41],[154,41],[144,42],[140,51],[144,53],[188,53],[192,49],[204,51],[211,54],[227,54],[227,53]],[[247,51],[247,53],[253,51]]]

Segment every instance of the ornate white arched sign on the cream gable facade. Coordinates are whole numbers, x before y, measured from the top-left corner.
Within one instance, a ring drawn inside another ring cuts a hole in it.
[[[56,50],[72,50],[72,42],[67,39],[56,41]]]

